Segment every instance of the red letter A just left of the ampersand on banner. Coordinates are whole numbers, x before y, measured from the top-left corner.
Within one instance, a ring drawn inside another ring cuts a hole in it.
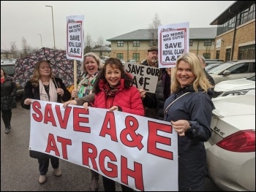
[[[106,113],[105,120],[102,125],[102,130],[100,131],[99,136],[106,137],[106,134],[108,134],[111,137],[111,140],[117,142],[116,121],[113,112]]]

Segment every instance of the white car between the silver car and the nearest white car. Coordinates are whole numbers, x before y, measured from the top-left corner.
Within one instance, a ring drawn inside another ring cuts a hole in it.
[[[238,96],[255,94],[255,76],[238,80],[227,80],[215,85],[214,96]]]

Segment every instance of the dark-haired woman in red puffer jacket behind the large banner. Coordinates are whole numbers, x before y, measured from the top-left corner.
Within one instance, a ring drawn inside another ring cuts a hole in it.
[[[132,86],[132,77],[124,72],[124,67],[118,58],[108,58],[105,65],[99,71],[96,82],[94,83],[94,96],[91,107],[99,107],[114,110],[129,112],[135,115],[144,115],[143,103],[140,97],[140,92]],[[88,100],[84,100],[88,96],[74,101],[67,101],[63,107],[68,104],[83,105],[88,110]],[[86,101],[86,102],[85,102]],[[105,191],[116,191],[116,183],[108,177],[102,176]],[[126,185],[121,185],[123,191],[133,191],[132,188]]]

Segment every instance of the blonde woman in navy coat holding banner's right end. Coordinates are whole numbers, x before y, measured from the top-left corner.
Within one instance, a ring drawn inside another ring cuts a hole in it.
[[[202,191],[206,177],[206,149],[211,137],[212,85],[193,53],[182,54],[174,69],[164,120],[178,133],[178,190]]]

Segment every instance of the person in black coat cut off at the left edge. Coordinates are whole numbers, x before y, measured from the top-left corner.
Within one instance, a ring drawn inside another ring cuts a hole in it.
[[[1,68],[1,118],[4,121],[5,133],[9,134],[12,119],[12,109],[16,108],[15,95],[17,88],[12,77]]]

